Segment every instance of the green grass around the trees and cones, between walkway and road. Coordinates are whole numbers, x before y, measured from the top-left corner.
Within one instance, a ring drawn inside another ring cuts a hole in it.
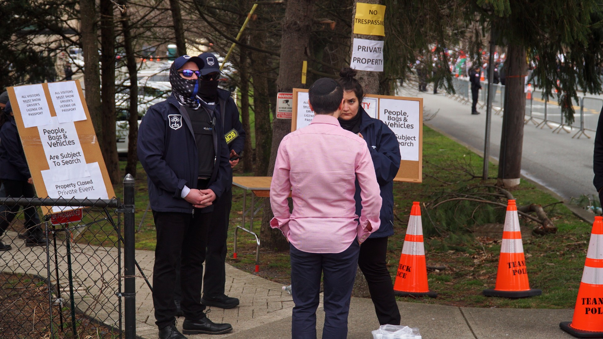
[[[122,163],[125,166],[125,163]],[[457,167],[455,169],[455,166]],[[446,168],[456,173],[443,170]],[[388,241],[388,268],[391,276],[396,274],[396,268],[403,246],[406,223],[412,206],[412,201],[427,202],[444,191],[455,191],[471,185],[478,185],[481,179],[472,179],[470,174],[461,173],[458,168],[464,168],[476,176],[481,175],[482,158],[472,153],[463,145],[452,141],[429,127],[423,129],[423,183],[394,183],[394,234]],[[495,176],[497,166],[490,164],[490,173]],[[251,174],[235,174],[251,175]],[[435,179],[437,178],[437,179]],[[458,180],[461,180],[457,182]],[[495,179],[485,183],[493,185]],[[136,177],[136,227],[142,218],[148,203],[146,176],[139,167]],[[447,184],[444,182],[455,182]],[[115,191],[121,195],[120,185]],[[520,188],[514,190],[518,206],[538,203],[546,206],[557,200],[546,192],[540,191],[535,185],[525,180]],[[591,225],[586,223],[567,209],[563,204],[555,204],[545,208],[545,211],[558,227],[556,234],[532,236],[524,239],[524,250],[531,288],[540,288],[543,294],[527,299],[503,299],[484,297],[484,288],[493,288],[496,281],[496,270],[500,252],[500,241],[489,238],[475,238],[467,227],[485,221],[502,223],[504,209],[481,208],[482,215],[473,220],[465,220],[466,211],[461,203],[453,208],[443,209],[442,218],[449,218],[450,211],[463,216],[456,223],[448,223],[446,227],[453,230],[442,236],[431,230],[432,236],[426,238],[425,248],[428,265],[446,265],[440,272],[428,274],[429,287],[437,291],[437,299],[428,298],[399,298],[409,302],[438,303],[455,306],[480,307],[511,307],[511,308],[572,308],[578,293],[584,259],[590,236]],[[239,232],[238,259],[232,259],[234,226],[241,223],[242,190],[233,188],[233,207],[230,215],[229,254],[227,262],[242,270],[254,271],[255,240],[246,233]],[[433,217],[437,214],[432,214]],[[520,223],[534,227],[535,223],[520,218]],[[261,212],[254,219],[254,231],[259,233]],[[478,223],[479,221],[479,223]],[[423,224],[426,226],[426,215],[423,214]],[[151,212],[147,214],[141,232],[136,233],[136,248],[154,250],[155,230]],[[260,250],[260,276],[289,284],[290,267],[288,253],[275,253],[270,249]]]

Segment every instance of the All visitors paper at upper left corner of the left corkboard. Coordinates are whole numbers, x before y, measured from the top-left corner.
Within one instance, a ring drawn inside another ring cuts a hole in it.
[[[25,128],[51,123],[50,109],[42,84],[14,87],[14,94]]]

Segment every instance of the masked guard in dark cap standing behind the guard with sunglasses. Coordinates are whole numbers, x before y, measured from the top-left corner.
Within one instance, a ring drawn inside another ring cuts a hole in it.
[[[205,63],[201,69],[199,81],[200,104],[207,110],[211,110],[224,129],[224,133],[235,129],[238,137],[229,144],[229,184],[224,193],[213,202],[212,227],[207,235],[207,250],[205,256],[205,274],[203,276],[203,297],[201,302],[206,306],[214,306],[224,309],[239,305],[239,299],[226,296],[224,284],[226,284],[226,239],[228,237],[228,226],[230,220],[230,208],[232,206],[232,168],[239,163],[239,155],[245,144],[245,130],[239,121],[239,109],[235,100],[230,97],[228,90],[218,88],[220,69],[216,56],[210,52],[200,54],[199,57]],[[180,305],[181,293],[176,284],[175,303]],[[178,315],[182,314],[181,311]]]

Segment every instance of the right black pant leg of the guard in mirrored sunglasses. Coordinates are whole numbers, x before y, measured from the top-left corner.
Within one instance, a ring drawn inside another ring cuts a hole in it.
[[[180,260],[180,288],[182,300],[180,306],[185,318],[199,320],[205,317],[205,305],[201,304],[201,287],[203,287],[203,262],[207,246],[207,230],[212,223],[212,212],[195,214],[182,242],[182,259]]]

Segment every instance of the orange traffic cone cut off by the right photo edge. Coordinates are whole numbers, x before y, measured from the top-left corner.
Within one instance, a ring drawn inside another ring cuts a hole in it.
[[[572,322],[559,327],[578,338],[603,337],[603,217],[595,217]]]

